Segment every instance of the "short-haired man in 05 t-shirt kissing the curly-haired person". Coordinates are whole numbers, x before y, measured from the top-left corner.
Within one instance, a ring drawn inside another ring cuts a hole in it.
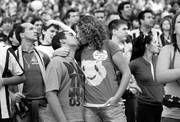
[[[72,33],[57,33],[52,47],[68,47],[67,57],[55,56],[46,71],[46,96],[57,122],[84,122],[84,75],[74,59],[78,41]]]

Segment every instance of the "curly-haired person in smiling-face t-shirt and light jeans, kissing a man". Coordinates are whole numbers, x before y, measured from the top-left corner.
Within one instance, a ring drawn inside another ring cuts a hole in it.
[[[128,85],[130,70],[122,52],[108,40],[102,23],[92,16],[80,18],[76,31],[81,44],[77,54],[86,77],[85,121],[126,122],[121,97]],[[122,74],[119,86],[115,67]]]

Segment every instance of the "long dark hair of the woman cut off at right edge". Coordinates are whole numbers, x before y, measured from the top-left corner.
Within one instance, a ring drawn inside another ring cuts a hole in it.
[[[176,34],[174,33],[174,30],[175,30],[176,19],[179,15],[180,15],[180,12],[175,14],[175,16],[172,19],[172,27],[171,27],[171,42],[173,42],[175,49],[178,49],[178,46],[177,46],[177,39],[176,39]]]

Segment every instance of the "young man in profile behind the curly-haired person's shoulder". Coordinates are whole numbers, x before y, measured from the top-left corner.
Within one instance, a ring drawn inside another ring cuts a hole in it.
[[[121,52],[126,58],[127,63],[130,62],[132,53],[132,42],[131,40],[127,42],[128,39],[128,26],[123,20],[113,20],[109,23],[109,32],[112,42],[119,45]],[[132,81],[132,82],[131,82]],[[139,87],[136,85],[134,80],[130,80],[129,86],[126,89],[123,98],[125,101],[125,113],[127,116],[127,122],[135,122],[136,120],[136,93]]]

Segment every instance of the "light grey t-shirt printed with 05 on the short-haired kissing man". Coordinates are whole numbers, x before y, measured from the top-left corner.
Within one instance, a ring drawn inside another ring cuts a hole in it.
[[[68,121],[83,121],[84,75],[75,60],[54,57],[46,71],[46,92],[58,91]]]

